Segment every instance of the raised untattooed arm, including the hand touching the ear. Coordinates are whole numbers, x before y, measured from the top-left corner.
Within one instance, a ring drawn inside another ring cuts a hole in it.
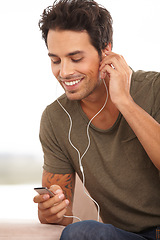
[[[109,78],[111,101],[123,114],[151,161],[160,170],[160,124],[133,101],[130,95],[132,71],[124,58],[108,51],[105,54],[100,71],[102,78]]]

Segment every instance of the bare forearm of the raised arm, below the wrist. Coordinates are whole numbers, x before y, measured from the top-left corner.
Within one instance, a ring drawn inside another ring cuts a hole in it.
[[[132,98],[123,101],[118,108],[153,164],[160,170],[160,124],[139,107]]]

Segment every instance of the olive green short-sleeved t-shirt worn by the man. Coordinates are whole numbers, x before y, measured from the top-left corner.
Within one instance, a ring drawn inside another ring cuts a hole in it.
[[[134,101],[160,123],[160,73],[133,72]],[[59,101],[72,118],[71,141],[81,156],[88,145],[89,122],[78,101],[62,95]],[[77,172],[78,153],[68,140],[70,120],[57,101],[41,119],[44,169],[57,174]],[[160,174],[136,135],[119,114],[108,130],[90,125],[90,148],[82,159],[86,188],[100,205],[104,223],[131,232],[160,225]],[[83,206],[82,206],[83,207]]]

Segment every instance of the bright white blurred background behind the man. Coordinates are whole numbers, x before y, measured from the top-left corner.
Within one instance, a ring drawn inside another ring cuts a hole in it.
[[[43,110],[63,93],[38,21],[51,0],[0,2],[0,220],[37,219]],[[113,17],[113,51],[134,70],[160,71],[160,1],[98,0]]]

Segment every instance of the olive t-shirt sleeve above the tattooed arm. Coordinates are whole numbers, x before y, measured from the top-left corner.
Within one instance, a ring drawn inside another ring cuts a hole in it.
[[[55,174],[73,173],[74,169],[69,159],[58,144],[47,108],[42,114],[39,137],[44,153],[43,168]]]

